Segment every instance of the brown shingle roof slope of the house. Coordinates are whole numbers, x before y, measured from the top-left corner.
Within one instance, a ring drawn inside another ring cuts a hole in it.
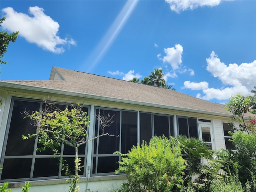
[[[76,93],[118,98],[175,108],[229,114],[224,106],[195,98],[174,90],[53,67],[65,80],[7,81],[15,84],[52,88]]]

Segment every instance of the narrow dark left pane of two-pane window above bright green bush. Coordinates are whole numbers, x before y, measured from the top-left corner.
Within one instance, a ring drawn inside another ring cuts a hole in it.
[[[151,124],[151,114],[140,113],[140,144],[142,144],[143,140],[149,143],[149,140],[152,138]]]

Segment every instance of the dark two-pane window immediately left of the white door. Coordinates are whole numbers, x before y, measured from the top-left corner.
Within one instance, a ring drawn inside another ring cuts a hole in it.
[[[179,135],[198,138],[196,118],[178,117]]]

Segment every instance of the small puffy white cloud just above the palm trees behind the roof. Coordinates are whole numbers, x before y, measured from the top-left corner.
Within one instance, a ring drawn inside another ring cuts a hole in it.
[[[180,44],[176,44],[174,47],[165,48],[164,53],[166,56],[160,58],[158,54],[158,58],[163,60],[163,62],[167,62],[172,66],[173,70],[176,70],[182,64],[182,52],[183,47]]]

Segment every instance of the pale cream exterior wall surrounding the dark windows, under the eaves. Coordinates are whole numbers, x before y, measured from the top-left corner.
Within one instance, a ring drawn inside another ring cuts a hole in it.
[[[167,115],[173,115],[174,119],[174,133],[177,135],[177,119],[176,116],[185,116],[185,117],[192,117],[192,118],[202,118],[202,119],[208,119],[211,120],[212,125],[212,133],[214,138],[214,144],[213,148],[216,150],[221,150],[221,148],[225,148],[225,142],[224,142],[224,134],[223,134],[223,128],[222,128],[222,122],[227,122],[229,118],[224,117],[217,117],[212,116],[208,114],[199,114],[199,113],[193,113],[193,112],[186,112],[186,111],[179,111],[179,110],[171,110],[171,109],[164,109],[164,108],[157,108],[157,107],[149,107],[149,106],[139,106],[139,105],[133,105],[133,104],[126,104],[126,103],[120,103],[120,102],[111,102],[111,101],[103,101],[103,100],[97,100],[97,99],[86,99],[81,97],[70,97],[70,96],[64,96],[64,95],[54,95],[49,93],[42,93],[42,92],[33,92],[33,91],[21,91],[21,90],[3,90],[1,89],[1,97],[4,98],[5,104],[3,106],[3,109],[1,109],[2,114],[2,120],[0,125],[0,154],[2,154],[3,149],[3,142],[4,142],[4,135],[6,132],[6,127],[8,123],[8,114],[10,110],[10,103],[12,100],[12,96],[17,97],[23,97],[23,98],[34,98],[34,99],[44,99],[44,98],[51,98],[53,101],[59,101],[59,102],[68,102],[68,103],[84,103],[86,105],[91,106],[90,109],[90,127],[94,128],[94,107],[100,106],[100,107],[108,107],[113,109],[124,109],[124,110],[134,110],[134,111],[140,111],[140,112],[150,112],[150,113],[159,113],[159,114],[167,114]],[[93,129],[89,129],[89,136],[93,136]],[[139,138],[139,133],[138,133]],[[91,160],[92,160],[92,145],[93,142],[88,143],[88,156],[87,156],[87,166],[85,169],[87,170],[88,166],[91,166]],[[124,181],[124,178],[122,179],[116,179],[112,178],[112,180],[106,180],[106,176],[99,176],[99,177],[90,177],[90,170],[87,170],[86,176],[89,178],[88,183],[88,189],[90,189],[91,192],[99,191],[99,192],[105,192],[113,188],[117,188],[120,186],[120,184]],[[81,191],[85,191],[86,189],[86,182],[87,178],[81,178],[81,182],[79,184]],[[46,180],[47,184],[41,183],[41,181],[33,181],[32,182],[32,188],[31,192],[41,192],[41,191],[68,191],[69,184],[66,184],[66,179],[58,179],[55,183],[52,183],[52,180]],[[17,185],[18,183],[18,185]],[[14,182],[10,183],[10,186],[12,186],[12,191],[20,191],[20,186],[22,186],[24,182]],[[36,186],[33,186],[36,185]]]

